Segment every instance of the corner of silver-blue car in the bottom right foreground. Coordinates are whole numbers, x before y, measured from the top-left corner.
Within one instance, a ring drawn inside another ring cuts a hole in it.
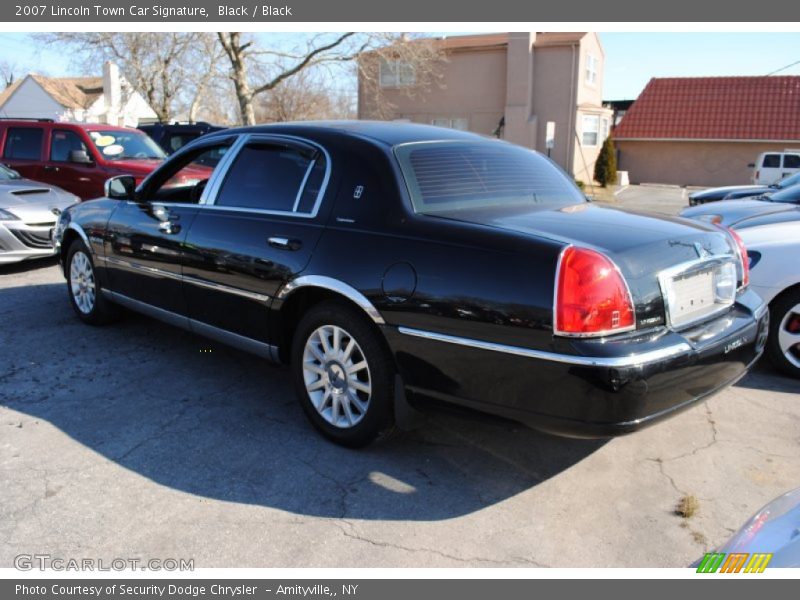
[[[716,549],[715,553],[725,556],[731,554],[767,554],[770,557],[761,559],[761,566],[800,567],[800,488],[778,496],[756,514],[737,531],[731,539]],[[708,557],[708,554],[706,555]],[[710,558],[710,557],[709,557]],[[708,560],[708,558],[706,559]],[[722,566],[722,558],[716,559],[718,569]],[[700,567],[698,560],[693,566]],[[747,568],[743,561],[737,563],[739,572]],[[763,569],[762,569],[763,570]]]

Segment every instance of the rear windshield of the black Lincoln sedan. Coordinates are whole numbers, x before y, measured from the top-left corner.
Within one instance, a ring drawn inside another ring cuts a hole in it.
[[[586,201],[549,159],[512,144],[423,142],[398,146],[395,154],[418,213]]]

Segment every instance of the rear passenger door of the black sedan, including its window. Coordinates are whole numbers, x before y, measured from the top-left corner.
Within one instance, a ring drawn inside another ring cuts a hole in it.
[[[186,239],[189,315],[268,342],[272,299],[322,233],[330,156],[310,142],[250,135],[225,168]]]

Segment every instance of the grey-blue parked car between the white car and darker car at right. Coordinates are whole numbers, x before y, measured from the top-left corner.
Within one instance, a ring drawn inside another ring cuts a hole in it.
[[[744,219],[756,216],[770,215],[771,221],[774,221],[776,216],[792,220],[798,211],[800,211],[800,185],[794,185],[772,194],[762,194],[743,200],[722,200],[713,204],[690,206],[684,208],[680,215],[733,227]]]

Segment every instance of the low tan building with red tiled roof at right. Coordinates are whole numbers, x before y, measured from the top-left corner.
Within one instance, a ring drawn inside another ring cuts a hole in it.
[[[800,148],[800,77],[653,78],[614,140],[632,183],[746,184],[761,152]]]

